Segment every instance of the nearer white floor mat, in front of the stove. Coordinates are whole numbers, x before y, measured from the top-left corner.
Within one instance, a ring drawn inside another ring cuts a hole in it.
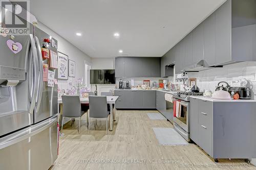
[[[162,145],[187,145],[188,142],[173,128],[153,128]]]

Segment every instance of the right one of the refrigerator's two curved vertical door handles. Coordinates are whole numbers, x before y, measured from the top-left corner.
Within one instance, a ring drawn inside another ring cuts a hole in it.
[[[37,99],[36,99],[36,112],[39,111],[40,104],[41,104],[41,99],[42,99],[42,90],[43,90],[43,76],[44,76],[44,71],[43,71],[43,65],[42,65],[42,53],[41,53],[41,48],[40,48],[40,43],[37,37],[35,37],[35,44],[36,44],[36,50],[37,50],[37,57],[38,57],[38,62],[39,62],[39,82],[38,82],[38,89],[37,89]]]

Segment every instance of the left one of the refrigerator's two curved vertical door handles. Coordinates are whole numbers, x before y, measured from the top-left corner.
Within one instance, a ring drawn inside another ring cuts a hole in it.
[[[30,108],[29,108],[29,113],[30,114],[33,114],[33,111],[34,111],[34,108],[35,108],[35,103],[36,103],[36,96],[37,96],[37,88],[38,88],[38,58],[36,57],[37,56],[37,53],[36,53],[36,46],[35,46],[35,40],[33,38],[33,35],[30,34],[29,35],[29,38],[30,38],[30,44],[31,44],[31,49],[32,49],[32,55],[33,56],[33,61],[34,61],[34,81],[33,81],[33,88],[32,88],[32,98],[31,98],[31,104],[30,104]],[[31,75],[31,74],[30,74]]]

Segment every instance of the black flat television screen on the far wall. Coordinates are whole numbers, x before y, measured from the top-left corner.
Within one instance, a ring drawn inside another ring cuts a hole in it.
[[[91,84],[116,84],[114,69],[91,69]]]

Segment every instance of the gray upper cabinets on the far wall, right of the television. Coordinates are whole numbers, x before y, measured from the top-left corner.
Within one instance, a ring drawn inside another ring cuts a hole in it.
[[[117,57],[116,77],[160,77],[159,57]]]

